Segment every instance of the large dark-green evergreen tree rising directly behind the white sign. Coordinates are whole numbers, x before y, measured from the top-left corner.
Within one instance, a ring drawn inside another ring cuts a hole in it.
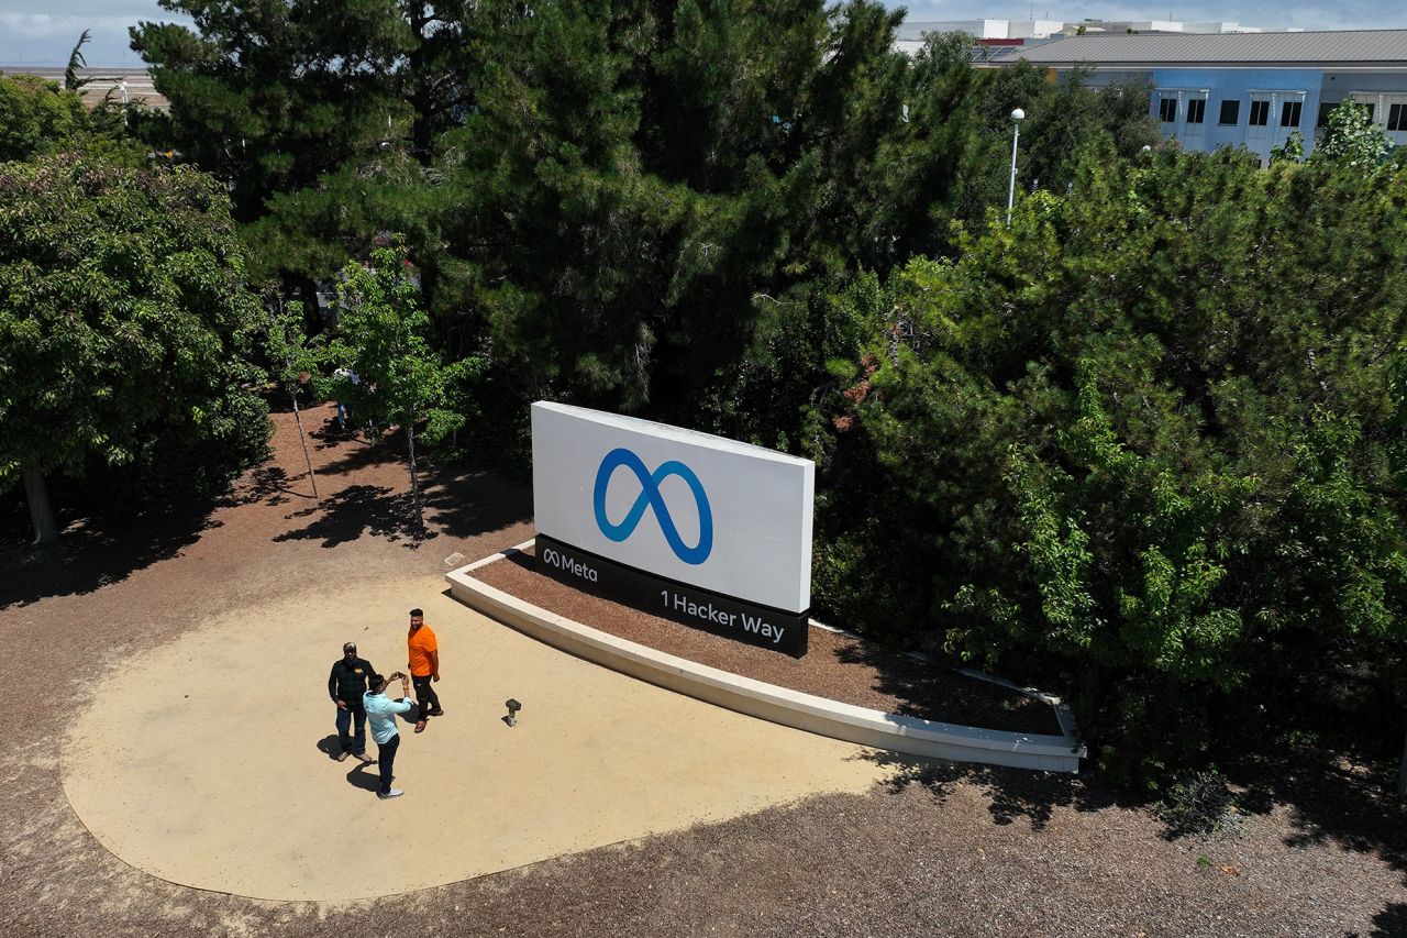
[[[443,241],[525,397],[702,423],[708,394],[743,417],[771,399],[764,349],[809,345],[774,330],[819,325],[815,284],[943,241],[979,162],[964,127],[979,79],[965,46],[912,70],[896,23],[870,3],[691,0],[553,7],[504,31],[476,113],[442,139],[477,177]]]

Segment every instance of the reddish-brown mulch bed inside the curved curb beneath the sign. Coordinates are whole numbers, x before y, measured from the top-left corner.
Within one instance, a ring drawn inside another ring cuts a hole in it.
[[[533,569],[530,548],[474,576],[618,638],[770,684],[924,720],[1061,735],[1051,707],[1016,690],[825,628],[812,627],[803,658],[711,635],[543,576]]]

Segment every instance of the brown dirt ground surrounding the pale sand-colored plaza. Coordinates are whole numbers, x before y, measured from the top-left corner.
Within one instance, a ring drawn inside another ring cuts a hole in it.
[[[530,537],[528,492],[464,469],[428,470],[421,535],[407,520],[400,448],[325,434],[329,414],[307,414],[319,428],[321,504],[310,497],[291,414],[276,414],[277,458],[208,513],[66,517],[63,544],[42,555],[20,546],[23,525],[6,527],[0,648],[13,718],[0,769],[0,934],[1407,934],[1407,820],[1382,794],[1390,770],[1339,759],[1266,765],[1248,793],[1245,832],[1220,839],[1169,839],[1152,814],[1120,803],[1095,776],[871,756],[889,780],[862,794],[815,796],[371,901],[259,901],[139,872],[87,832],[61,783],[63,741],[104,677],[198,623],[272,608],[318,583],[432,576],[450,554],[474,559]],[[305,632],[291,615],[283,641]],[[287,654],[286,645],[263,654]],[[197,658],[184,669],[214,666]],[[473,662],[460,666],[473,680]],[[279,731],[290,696],[322,694],[324,680],[250,682],[246,693],[269,699],[267,717],[212,735],[208,758],[232,776],[303,784],[270,763],[265,737]],[[160,811],[156,796],[120,773],[111,784]],[[425,842],[419,834],[400,831],[384,849],[355,856],[317,842],[304,849],[331,868],[394,865]]]

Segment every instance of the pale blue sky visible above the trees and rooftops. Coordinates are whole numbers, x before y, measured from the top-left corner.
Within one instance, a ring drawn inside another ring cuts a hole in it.
[[[1401,0],[913,0],[909,20],[1182,20],[1233,21],[1252,27],[1303,30],[1407,28]],[[37,11],[42,10],[42,13]],[[0,0],[0,68],[68,65],[83,30],[93,38],[83,48],[89,65],[141,68],[128,48],[127,28],[138,21],[189,23],[162,10],[156,0]]]

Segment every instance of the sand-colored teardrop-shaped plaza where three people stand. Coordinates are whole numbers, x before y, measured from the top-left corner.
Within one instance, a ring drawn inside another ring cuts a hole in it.
[[[383,673],[404,670],[405,630],[388,623],[412,606],[439,637],[446,715],[424,734],[402,724],[407,794],[380,801],[376,766],[329,758],[325,683],[349,639]],[[512,728],[508,697],[523,703]],[[75,721],[62,777],[83,824],[141,870],[338,901],[860,793],[884,772],[864,753],[540,645],[432,576],[236,610],[134,658]]]

